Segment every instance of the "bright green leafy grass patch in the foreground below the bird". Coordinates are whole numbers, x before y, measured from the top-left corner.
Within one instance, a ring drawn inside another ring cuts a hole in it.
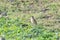
[[[17,19],[9,19],[6,22],[5,18],[1,18],[0,34],[5,35],[6,40],[55,40],[54,32],[45,29],[42,25],[23,26]]]

